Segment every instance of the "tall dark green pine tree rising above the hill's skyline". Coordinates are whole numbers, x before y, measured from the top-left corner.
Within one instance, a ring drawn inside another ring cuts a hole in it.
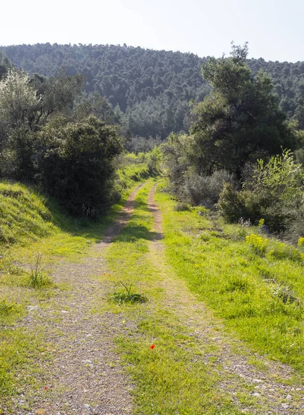
[[[269,77],[251,76],[247,45],[233,46],[231,57],[211,58],[202,75],[213,86],[211,94],[195,107],[191,128],[199,169],[215,166],[235,172],[249,160],[276,154],[280,146],[296,147],[296,137],[285,123]]]

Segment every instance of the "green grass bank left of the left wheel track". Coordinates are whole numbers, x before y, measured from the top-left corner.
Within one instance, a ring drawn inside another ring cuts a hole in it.
[[[137,165],[131,160],[124,172],[122,199],[97,222],[66,216],[55,201],[31,187],[0,183],[0,413],[1,409],[6,413],[2,402],[22,389],[23,382],[35,382],[35,360],[45,347],[42,332],[33,335],[26,328],[13,328],[14,324],[26,317],[28,306],[46,307],[57,290],[68,289],[63,284],[46,284],[49,279],[44,268],[91,255],[92,244],[102,239],[132,188],[139,184],[129,177]],[[42,264],[35,273],[37,257]],[[20,380],[23,368],[26,375]]]

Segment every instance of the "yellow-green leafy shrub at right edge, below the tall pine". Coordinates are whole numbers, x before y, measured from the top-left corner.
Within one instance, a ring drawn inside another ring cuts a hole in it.
[[[245,217],[258,224],[263,218],[270,230],[286,234],[294,228],[289,239],[297,241],[303,232],[303,191],[303,169],[291,151],[283,150],[281,156],[273,156],[267,163],[258,160],[242,190],[226,186],[218,208],[226,221]]]

